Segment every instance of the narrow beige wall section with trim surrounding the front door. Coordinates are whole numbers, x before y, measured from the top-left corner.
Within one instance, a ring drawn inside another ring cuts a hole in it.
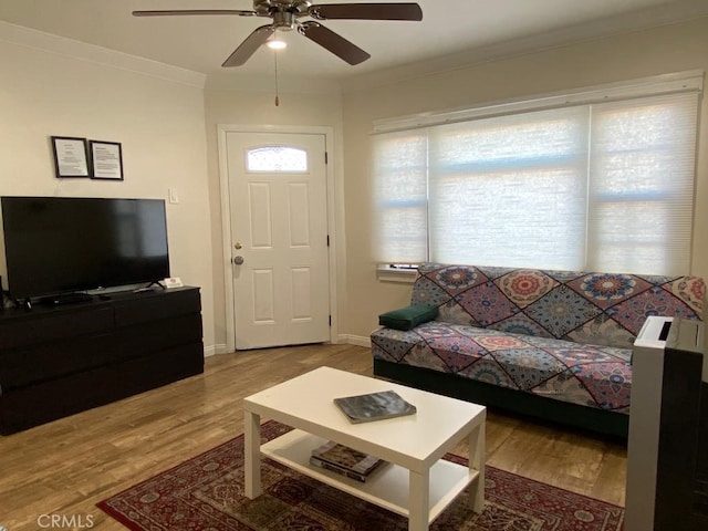
[[[222,246],[222,220],[221,220],[221,190],[219,175],[219,153],[217,140],[217,127],[221,125],[254,126],[321,126],[331,127],[334,132],[334,146],[327,146],[330,164],[334,164],[334,195],[341,197],[341,146],[342,146],[342,102],[339,91],[336,93],[282,93],[280,94],[280,105],[275,106],[274,95],[268,91],[266,93],[251,92],[248,90],[211,90],[206,91],[206,116],[207,116],[207,145],[209,157],[209,202],[211,208],[211,248],[212,263],[211,273],[215,285],[215,322],[216,340],[220,350],[223,350],[226,337],[226,294],[225,294],[225,267],[231,268],[229,260],[230,252],[223,252]],[[343,199],[341,199],[343,202]],[[337,293],[344,293],[344,233],[343,212],[335,212],[340,219],[337,228],[331,228],[336,233],[331,238],[336,238],[339,243],[340,272],[336,289]],[[339,298],[343,300],[342,296]],[[341,306],[342,302],[340,302]]]

